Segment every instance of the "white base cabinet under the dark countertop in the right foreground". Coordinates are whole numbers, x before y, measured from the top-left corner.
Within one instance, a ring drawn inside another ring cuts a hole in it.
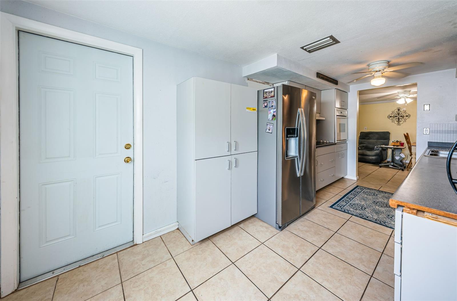
[[[394,300],[457,300],[457,227],[402,209],[395,214]]]

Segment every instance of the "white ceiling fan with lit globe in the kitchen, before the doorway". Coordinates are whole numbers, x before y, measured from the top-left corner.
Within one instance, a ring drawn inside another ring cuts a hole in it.
[[[360,78],[356,78],[356,79],[350,81],[349,83],[353,83],[362,78],[367,78],[369,76],[374,75],[374,78],[372,78],[372,80],[371,80],[371,84],[373,86],[380,86],[386,82],[386,78],[404,78],[405,76],[408,75],[407,73],[397,72],[397,70],[415,67],[420,64],[421,64],[420,62],[411,62],[411,63],[407,63],[407,64],[389,67],[389,61],[384,60],[384,61],[372,62],[372,63],[368,64],[369,71],[352,73],[352,74],[368,73],[367,75],[364,75]]]

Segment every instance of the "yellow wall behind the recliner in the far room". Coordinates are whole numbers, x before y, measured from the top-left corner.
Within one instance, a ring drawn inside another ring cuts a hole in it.
[[[406,108],[406,112],[411,114],[411,117],[406,119],[406,122],[402,125],[396,125],[387,118],[387,115],[397,108]],[[415,100],[407,106],[404,104],[397,104],[396,102],[359,105],[359,134],[360,131],[389,131],[391,142],[392,140],[400,140],[405,142],[406,146],[406,141],[403,136],[404,133],[409,133],[411,142],[416,142],[416,120],[417,101]],[[364,130],[364,127],[367,127],[367,130]],[[407,154],[408,148],[406,148],[403,153]]]

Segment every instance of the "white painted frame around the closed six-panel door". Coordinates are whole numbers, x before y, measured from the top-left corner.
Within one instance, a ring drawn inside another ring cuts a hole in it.
[[[133,243],[143,242],[143,50],[0,12],[0,285],[19,285],[18,34],[27,31],[133,57]]]

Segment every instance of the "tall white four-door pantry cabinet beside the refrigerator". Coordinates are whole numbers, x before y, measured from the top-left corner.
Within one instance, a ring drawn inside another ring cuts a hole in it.
[[[257,213],[257,91],[190,78],[176,107],[177,218],[195,244]]]

